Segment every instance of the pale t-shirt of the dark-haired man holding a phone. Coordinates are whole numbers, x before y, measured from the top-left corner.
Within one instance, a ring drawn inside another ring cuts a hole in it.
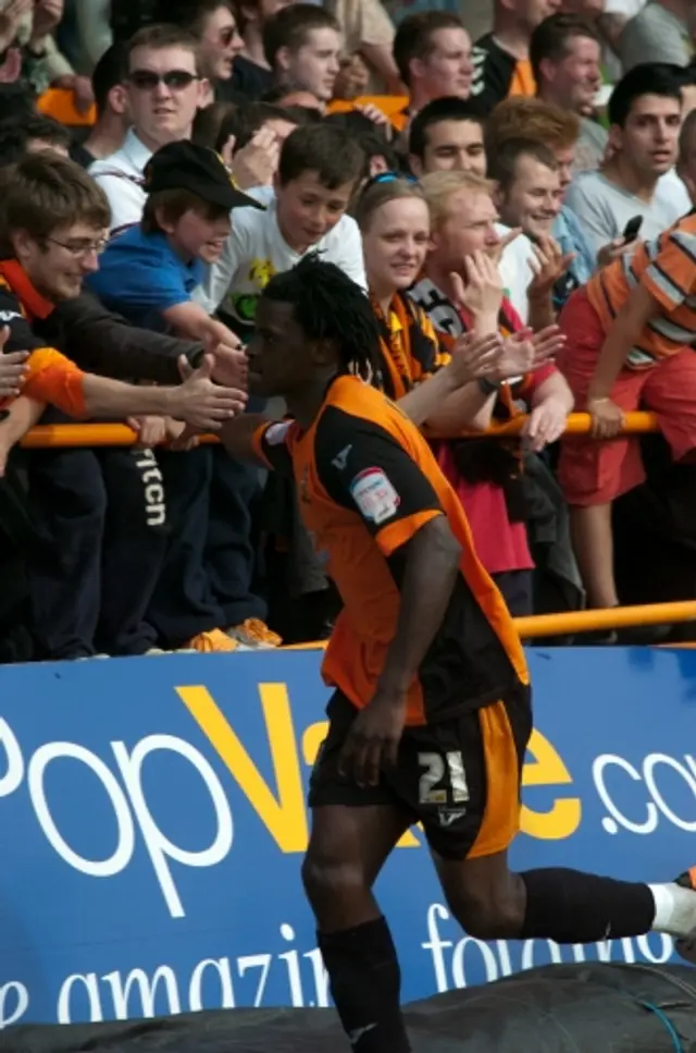
[[[686,187],[675,172],[660,176],[649,203],[611,183],[601,172],[581,172],[568,188],[566,204],[583,224],[595,253],[621,237],[634,216],[643,217],[641,241],[649,241],[692,207]]]

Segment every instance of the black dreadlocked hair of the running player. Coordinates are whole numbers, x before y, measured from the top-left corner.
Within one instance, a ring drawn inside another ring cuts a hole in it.
[[[263,295],[291,304],[310,340],[332,340],[341,374],[382,385],[377,319],[362,289],[335,264],[312,253],[272,278]]]

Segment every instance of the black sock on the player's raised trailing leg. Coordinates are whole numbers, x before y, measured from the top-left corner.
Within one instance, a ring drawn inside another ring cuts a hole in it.
[[[580,870],[527,870],[520,877],[526,885],[522,940],[595,943],[642,935],[652,925],[655,901],[647,885]]]

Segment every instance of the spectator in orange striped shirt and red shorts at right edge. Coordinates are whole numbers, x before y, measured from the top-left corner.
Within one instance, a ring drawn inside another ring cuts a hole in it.
[[[560,316],[568,341],[558,366],[575,408],[593,420],[592,436],[561,440],[559,464],[589,607],[619,603],[612,503],[645,478],[639,438],[620,434],[624,413],[651,409],[674,461],[693,460],[695,292],[696,212],[689,212],[598,271]]]

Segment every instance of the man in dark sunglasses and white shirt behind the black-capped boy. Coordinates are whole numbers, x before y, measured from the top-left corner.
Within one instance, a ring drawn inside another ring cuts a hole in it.
[[[133,126],[120,150],[89,169],[109,198],[112,235],[140,222],[145,166],[161,146],[190,138],[209,90],[200,76],[196,38],[177,26],[151,25],[136,33],[127,71]]]

